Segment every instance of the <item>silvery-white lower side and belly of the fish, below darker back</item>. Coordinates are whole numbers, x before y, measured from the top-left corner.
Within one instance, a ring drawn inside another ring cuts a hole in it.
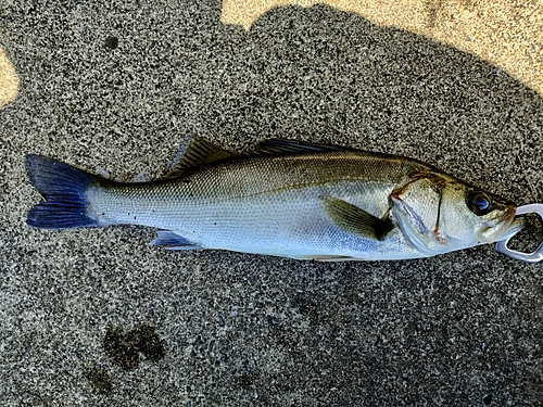
[[[205,249],[292,258],[400,259],[422,257],[399,228],[384,240],[345,232],[324,212],[319,196],[331,195],[381,217],[391,186],[364,191],[355,183],[290,189],[237,199],[191,199],[176,194],[151,199],[111,196],[96,191],[93,211],[102,224],[137,224],[172,230]],[[368,193],[370,192],[370,193]]]

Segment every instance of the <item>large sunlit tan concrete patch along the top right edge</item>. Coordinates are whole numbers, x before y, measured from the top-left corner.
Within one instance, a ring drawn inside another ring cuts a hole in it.
[[[223,0],[220,20],[249,30],[273,8],[317,3],[472,52],[543,93],[542,1]]]

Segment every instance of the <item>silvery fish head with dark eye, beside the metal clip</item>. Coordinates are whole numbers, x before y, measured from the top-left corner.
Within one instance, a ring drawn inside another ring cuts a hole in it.
[[[427,255],[505,240],[523,227],[513,202],[441,174],[416,177],[390,200],[392,219]]]

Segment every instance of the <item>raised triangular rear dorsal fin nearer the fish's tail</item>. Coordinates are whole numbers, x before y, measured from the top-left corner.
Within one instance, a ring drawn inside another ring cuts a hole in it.
[[[177,151],[167,174],[167,178],[180,177],[188,169],[201,167],[203,165],[232,158],[240,155],[233,151],[225,150],[211,141],[200,137],[187,138]]]

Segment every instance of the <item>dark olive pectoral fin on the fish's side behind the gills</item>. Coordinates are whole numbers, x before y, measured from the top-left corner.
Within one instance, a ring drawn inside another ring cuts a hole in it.
[[[320,201],[330,220],[349,233],[382,240],[394,228],[388,217],[380,219],[343,200],[333,196],[320,196]]]

